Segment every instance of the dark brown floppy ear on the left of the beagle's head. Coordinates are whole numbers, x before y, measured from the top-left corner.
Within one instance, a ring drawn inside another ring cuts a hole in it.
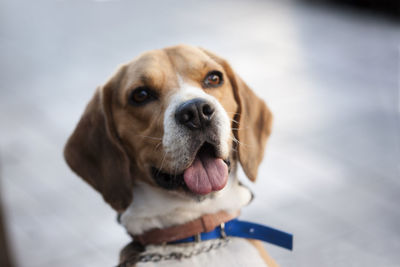
[[[64,157],[70,168],[99,191],[115,210],[132,201],[129,159],[115,131],[110,82],[98,88],[69,138]]]

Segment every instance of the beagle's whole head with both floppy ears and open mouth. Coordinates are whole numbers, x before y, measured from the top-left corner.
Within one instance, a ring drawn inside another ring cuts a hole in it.
[[[197,197],[239,161],[254,181],[272,116],[222,58],[176,46],[122,65],[89,102],[64,155],[117,211],[135,183]]]

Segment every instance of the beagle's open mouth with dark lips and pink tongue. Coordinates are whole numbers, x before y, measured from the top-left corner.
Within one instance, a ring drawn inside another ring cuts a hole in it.
[[[205,142],[196,152],[190,166],[183,172],[169,174],[154,167],[151,168],[151,172],[156,183],[164,189],[181,187],[197,195],[206,195],[225,187],[229,167],[229,159],[218,158],[215,146]]]

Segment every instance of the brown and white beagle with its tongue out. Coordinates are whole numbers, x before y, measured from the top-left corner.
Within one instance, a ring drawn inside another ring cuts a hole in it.
[[[272,114],[226,60],[178,45],[143,53],[96,89],[64,150],[133,236],[119,266],[277,266],[223,225],[253,198]],[[186,243],[220,227],[222,238]]]

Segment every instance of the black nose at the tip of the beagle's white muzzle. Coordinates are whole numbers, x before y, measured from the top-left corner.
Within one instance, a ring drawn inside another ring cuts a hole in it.
[[[202,129],[210,124],[214,107],[204,99],[195,98],[181,104],[175,111],[175,119],[190,130]]]

